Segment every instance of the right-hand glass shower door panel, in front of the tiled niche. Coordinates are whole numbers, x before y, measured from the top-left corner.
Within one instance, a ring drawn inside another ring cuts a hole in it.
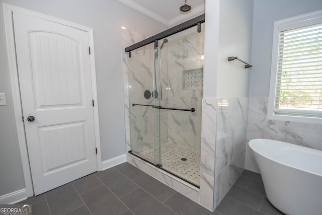
[[[200,183],[203,27],[161,39],[154,49],[159,164],[195,185]]]

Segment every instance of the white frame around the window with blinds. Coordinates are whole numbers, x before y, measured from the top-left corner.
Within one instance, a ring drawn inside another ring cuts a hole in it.
[[[322,117],[296,116],[295,115],[296,110],[294,109],[289,109],[288,113],[287,111],[285,111],[285,114],[283,115],[275,114],[274,112],[276,81],[277,81],[276,78],[277,78],[277,72],[278,72],[279,34],[281,31],[290,30],[293,28],[306,27],[308,25],[313,25],[318,23],[322,23],[322,10],[274,22],[271,80],[270,80],[270,91],[269,91],[268,109],[267,109],[268,119],[322,124]],[[290,112],[293,112],[293,113],[295,112],[295,114],[291,115]],[[322,115],[322,111],[321,111],[321,115]]]

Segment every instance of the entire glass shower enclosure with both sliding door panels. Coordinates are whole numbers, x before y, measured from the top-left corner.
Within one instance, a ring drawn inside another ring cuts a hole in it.
[[[151,43],[142,45],[143,40],[139,47],[126,49],[129,153],[197,187],[204,15],[201,18],[185,30],[163,32]]]

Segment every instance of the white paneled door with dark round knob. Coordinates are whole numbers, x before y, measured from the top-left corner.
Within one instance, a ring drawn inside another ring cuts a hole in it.
[[[88,32],[13,14],[35,195],[97,171]]]

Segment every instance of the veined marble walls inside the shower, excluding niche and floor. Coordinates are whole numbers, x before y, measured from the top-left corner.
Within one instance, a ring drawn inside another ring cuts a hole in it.
[[[203,54],[203,34],[197,36],[172,40],[160,51],[160,105],[185,109],[194,107],[196,111],[160,110],[159,135],[161,144],[173,142],[200,151],[202,86],[193,90],[183,88],[184,70],[203,67],[203,60],[200,59]],[[128,29],[122,31],[123,48],[142,39],[144,36],[139,33]],[[145,99],[143,94],[145,90],[152,92],[153,89],[154,57],[152,44],[132,51],[131,58],[127,53],[123,54],[125,120],[130,125],[126,132],[131,137],[126,139],[127,150],[131,148],[130,140],[132,149],[136,152],[154,147],[153,134],[156,133],[153,133],[153,128],[158,124],[154,125],[153,109],[132,107],[132,103],[153,105],[153,98]]]

